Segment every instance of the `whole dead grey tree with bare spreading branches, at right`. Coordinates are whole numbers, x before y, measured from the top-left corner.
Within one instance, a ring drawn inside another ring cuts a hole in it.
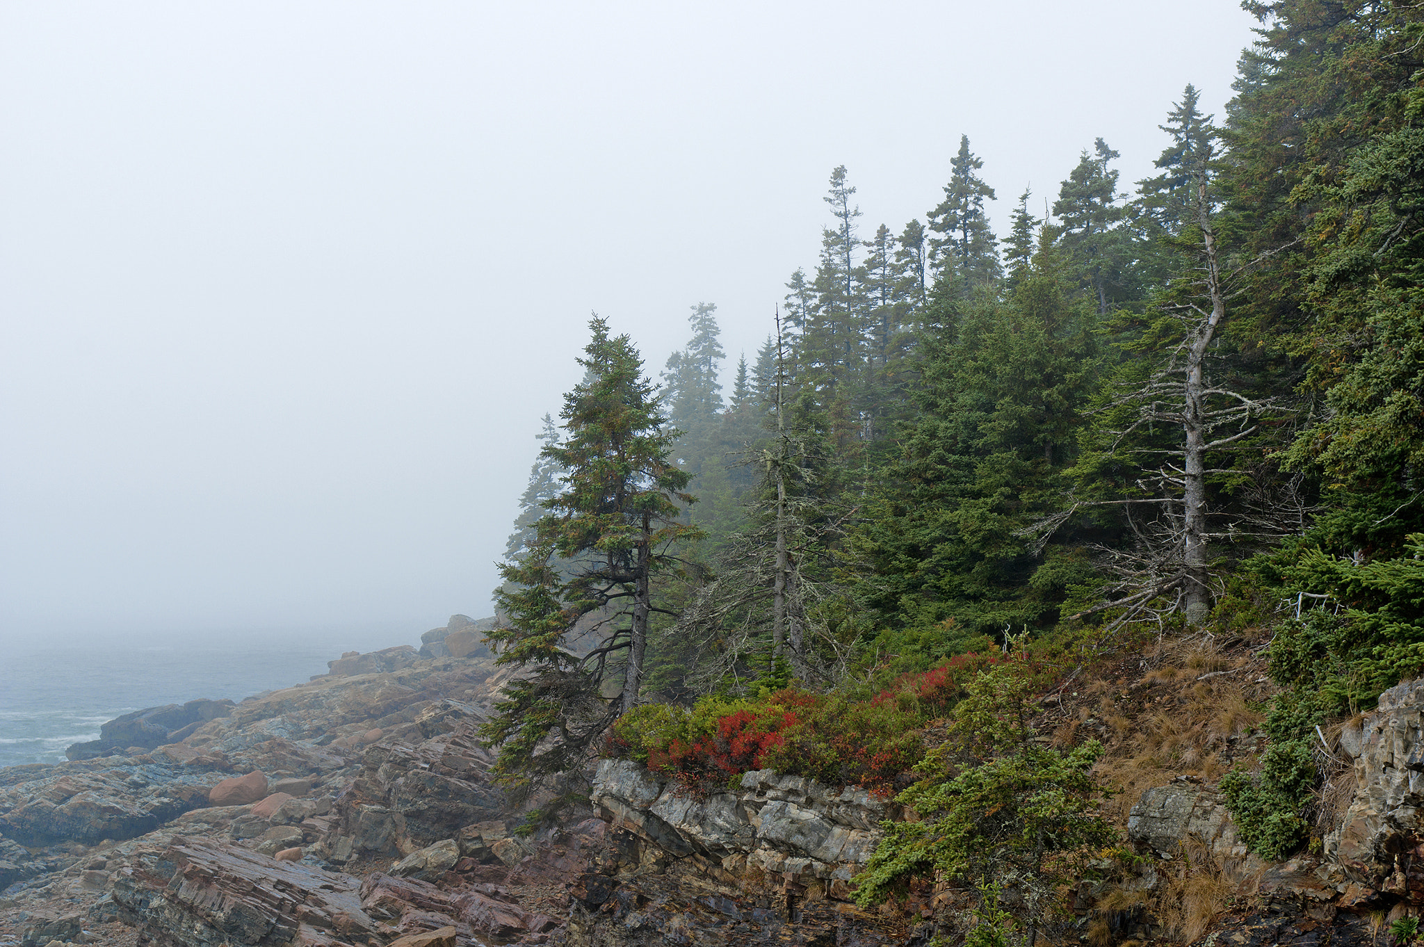
[[[1246,447],[1269,419],[1292,412],[1280,396],[1255,397],[1213,377],[1212,367],[1219,333],[1232,299],[1243,292],[1245,273],[1266,256],[1225,268],[1213,219],[1209,140],[1190,165],[1192,185],[1188,208],[1190,226],[1179,242],[1190,245],[1192,266],[1178,279],[1175,291],[1159,310],[1175,318],[1182,335],[1148,379],[1124,390],[1099,414],[1126,413],[1128,423],[1111,430],[1108,456],[1132,457],[1141,464],[1134,484],[1138,497],[1071,503],[1061,513],[1047,517],[1025,534],[1037,534],[1040,545],[1084,507],[1121,506],[1132,537],[1124,548],[1096,547],[1102,567],[1114,575],[1109,601],[1074,615],[1121,609],[1111,627],[1126,621],[1156,617],[1159,621],[1180,611],[1189,624],[1206,621],[1216,597],[1212,545],[1223,540],[1250,535],[1294,533],[1302,528],[1309,510],[1300,497],[1299,478],[1276,483],[1272,471],[1212,466],[1216,457]],[[1143,444],[1143,434],[1158,426],[1179,431],[1175,444]],[[1219,461],[1218,461],[1219,463]],[[1213,510],[1209,480],[1213,476],[1246,478],[1247,500],[1242,510],[1230,511],[1230,521],[1220,523],[1222,510]],[[1143,516],[1148,513],[1148,516]],[[1215,524],[1213,524],[1215,521]]]

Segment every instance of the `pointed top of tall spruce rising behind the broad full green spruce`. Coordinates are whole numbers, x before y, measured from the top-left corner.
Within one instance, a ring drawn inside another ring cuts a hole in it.
[[[957,283],[960,292],[993,283],[1002,273],[984,209],[984,201],[994,199],[994,188],[978,177],[983,167],[983,158],[970,151],[968,135],[961,135],[960,151],[950,159],[944,201],[930,211],[930,229],[940,235],[931,241],[937,279]]]

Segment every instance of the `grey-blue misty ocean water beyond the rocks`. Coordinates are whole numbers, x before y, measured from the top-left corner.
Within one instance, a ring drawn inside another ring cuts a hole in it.
[[[105,721],[195,698],[241,701],[326,674],[343,651],[420,645],[400,631],[222,634],[147,639],[6,638],[0,647],[0,766],[56,763]]]

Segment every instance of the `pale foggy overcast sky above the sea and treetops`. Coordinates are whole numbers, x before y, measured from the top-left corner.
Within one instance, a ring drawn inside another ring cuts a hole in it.
[[[755,355],[844,164],[1148,177],[1235,0],[0,4],[0,635],[490,612],[591,310]],[[394,641],[392,642],[394,644]]]

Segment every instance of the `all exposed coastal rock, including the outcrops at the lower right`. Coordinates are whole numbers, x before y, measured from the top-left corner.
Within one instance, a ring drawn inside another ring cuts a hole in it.
[[[591,807],[518,834],[524,813],[476,739],[511,674],[461,619],[419,651],[346,654],[328,675],[236,703],[140,711],[105,725],[100,745],[73,748],[71,762],[0,770],[0,947],[954,936],[956,893],[943,884],[879,911],[853,904],[850,879],[880,823],[914,817],[853,788],[763,770],[698,797],[604,760]],[[1353,783],[1323,852],[1265,864],[1212,786],[1178,780],[1136,802],[1128,827],[1142,867],[1124,887],[1161,886],[1196,846],[1247,893],[1213,944],[1364,944],[1374,914],[1417,910],[1424,685],[1387,692],[1327,749]],[[1085,931],[1101,920],[1099,887],[1084,883],[1075,899]],[[1161,936],[1132,909],[1109,920],[1116,941]]]

